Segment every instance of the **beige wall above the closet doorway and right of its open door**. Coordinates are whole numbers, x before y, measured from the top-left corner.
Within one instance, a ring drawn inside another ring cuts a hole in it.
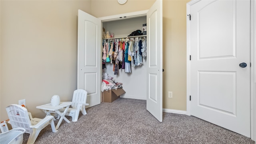
[[[186,3],[189,1],[163,0],[163,108],[167,109],[186,111]],[[92,15],[103,17],[148,10],[154,2],[128,0],[120,5],[117,0],[92,0]],[[168,91],[173,92],[173,98],[168,98]]]

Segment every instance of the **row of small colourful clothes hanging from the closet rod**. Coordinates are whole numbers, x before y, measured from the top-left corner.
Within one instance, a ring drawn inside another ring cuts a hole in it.
[[[146,37],[108,39],[102,41],[102,46],[102,62],[113,64],[114,75],[121,68],[130,73],[131,67],[141,66],[142,58],[146,58]]]

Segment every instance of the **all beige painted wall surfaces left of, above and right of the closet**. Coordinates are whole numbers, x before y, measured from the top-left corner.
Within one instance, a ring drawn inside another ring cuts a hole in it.
[[[54,94],[71,100],[77,82],[77,10],[95,17],[148,10],[155,0],[0,1],[0,120],[26,99],[35,107]],[[186,110],[186,3],[163,1],[163,108]],[[172,99],[168,91],[173,92]]]

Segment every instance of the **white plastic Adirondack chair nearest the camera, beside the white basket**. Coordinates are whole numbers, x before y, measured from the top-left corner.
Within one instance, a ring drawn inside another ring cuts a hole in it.
[[[27,144],[34,144],[40,131],[48,124],[52,127],[52,132],[57,132],[54,126],[53,116],[46,116],[44,119],[32,118],[28,110],[18,104],[11,104],[6,107],[6,111],[12,128],[24,128],[30,134]]]

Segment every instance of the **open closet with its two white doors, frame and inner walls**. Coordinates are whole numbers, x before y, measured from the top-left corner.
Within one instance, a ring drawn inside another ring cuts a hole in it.
[[[147,40],[147,55],[143,65],[131,67],[131,73],[120,70],[114,76],[113,65],[106,64],[106,71],[116,82],[123,83],[124,97],[145,99],[147,110],[162,122],[162,0],[156,0],[146,11],[102,18],[78,10],[77,87],[88,92],[88,107],[100,104],[102,27],[114,33],[114,38],[127,38],[131,32],[142,30],[142,24],[147,24],[147,35],[143,36]]]

